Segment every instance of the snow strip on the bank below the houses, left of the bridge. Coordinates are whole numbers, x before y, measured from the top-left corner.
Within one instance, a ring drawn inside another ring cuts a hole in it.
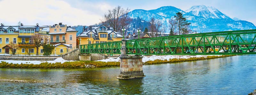
[[[8,62],[8,63],[13,63],[13,64],[40,64],[40,63],[43,63],[43,62],[48,62],[48,63],[56,63],[56,62],[61,62],[61,63],[64,63],[64,62],[73,62],[73,60],[64,60],[63,58],[57,58],[53,61],[38,61],[38,60],[32,60],[32,61],[25,61],[25,60],[0,60],[0,62]]]

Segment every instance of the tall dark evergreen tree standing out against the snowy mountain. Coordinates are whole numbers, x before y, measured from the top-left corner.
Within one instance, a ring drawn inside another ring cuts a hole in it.
[[[189,26],[190,23],[188,23],[188,21],[186,21],[187,19],[183,17],[182,13],[180,13],[180,12],[176,13],[176,16],[174,16],[174,18],[178,24],[179,35],[181,32],[182,32],[182,34],[188,33],[187,26]]]

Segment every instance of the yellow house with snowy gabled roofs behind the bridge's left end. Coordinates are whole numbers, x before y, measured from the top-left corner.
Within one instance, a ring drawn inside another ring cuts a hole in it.
[[[81,40],[79,41],[79,39]],[[84,28],[83,32],[76,37],[76,44],[102,43],[120,41],[121,39],[123,39],[123,36],[120,35],[120,33],[111,30],[110,27],[104,25],[98,27],[89,26],[88,28]]]

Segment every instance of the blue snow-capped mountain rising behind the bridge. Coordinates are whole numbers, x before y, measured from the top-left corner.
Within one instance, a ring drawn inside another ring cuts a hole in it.
[[[243,21],[240,19],[232,19],[224,13],[220,12],[218,9],[205,5],[192,6],[186,11],[183,11],[173,6],[164,6],[155,10],[148,11],[133,10],[129,12],[128,15],[133,19],[140,18],[141,20],[146,22],[150,21],[152,17],[160,20],[163,22],[165,32],[169,33],[169,19],[174,17],[177,12],[181,12],[183,16],[187,19],[187,21],[191,23],[190,28],[192,31],[197,31],[201,33],[256,29],[256,27],[251,22]],[[135,22],[132,22],[128,27],[132,28],[129,29],[130,31],[132,31],[139,28],[139,25],[136,25]]]

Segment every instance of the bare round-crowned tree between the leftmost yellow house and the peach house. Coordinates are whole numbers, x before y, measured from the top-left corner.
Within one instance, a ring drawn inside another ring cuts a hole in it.
[[[36,47],[36,55],[38,55],[38,48],[49,43],[49,39],[46,35],[35,34],[32,36]]]

